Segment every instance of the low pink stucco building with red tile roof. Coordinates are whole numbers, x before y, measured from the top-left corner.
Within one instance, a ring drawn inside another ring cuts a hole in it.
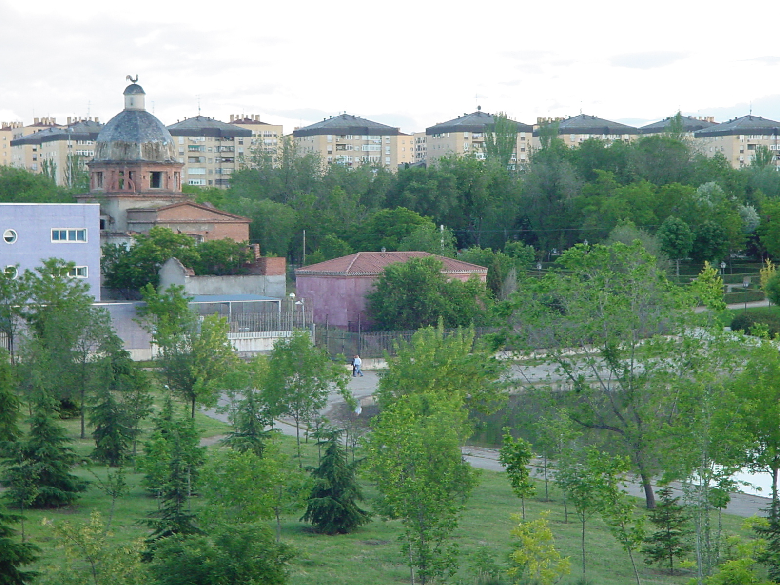
[[[441,260],[441,273],[449,278],[466,281],[477,275],[485,282],[488,277],[488,268],[427,252],[357,252],[298,268],[296,294],[313,300],[315,323],[342,328],[347,328],[350,321],[367,324],[366,293],[385,266],[424,256]]]

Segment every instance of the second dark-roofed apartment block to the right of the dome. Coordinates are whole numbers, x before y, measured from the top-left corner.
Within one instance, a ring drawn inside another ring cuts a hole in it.
[[[324,165],[397,168],[399,134],[398,128],[341,114],[296,128],[293,140],[300,154],[318,154]]]

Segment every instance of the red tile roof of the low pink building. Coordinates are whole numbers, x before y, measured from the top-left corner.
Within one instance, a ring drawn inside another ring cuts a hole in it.
[[[445,275],[486,275],[488,268],[477,266],[455,260],[454,258],[445,258],[436,256],[428,252],[357,252],[326,260],[317,264],[310,264],[303,268],[296,269],[297,276],[377,276],[385,270],[388,264],[395,262],[406,262],[410,258],[421,258],[433,256],[441,260],[444,269],[441,271]]]

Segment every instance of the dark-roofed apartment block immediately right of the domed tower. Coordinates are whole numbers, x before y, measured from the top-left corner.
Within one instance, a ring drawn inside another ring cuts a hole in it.
[[[204,115],[187,118],[167,126],[183,163],[187,185],[216,186],[226,189],[230,176],[240,168],[236,154],[246,155],[252,132]]]

